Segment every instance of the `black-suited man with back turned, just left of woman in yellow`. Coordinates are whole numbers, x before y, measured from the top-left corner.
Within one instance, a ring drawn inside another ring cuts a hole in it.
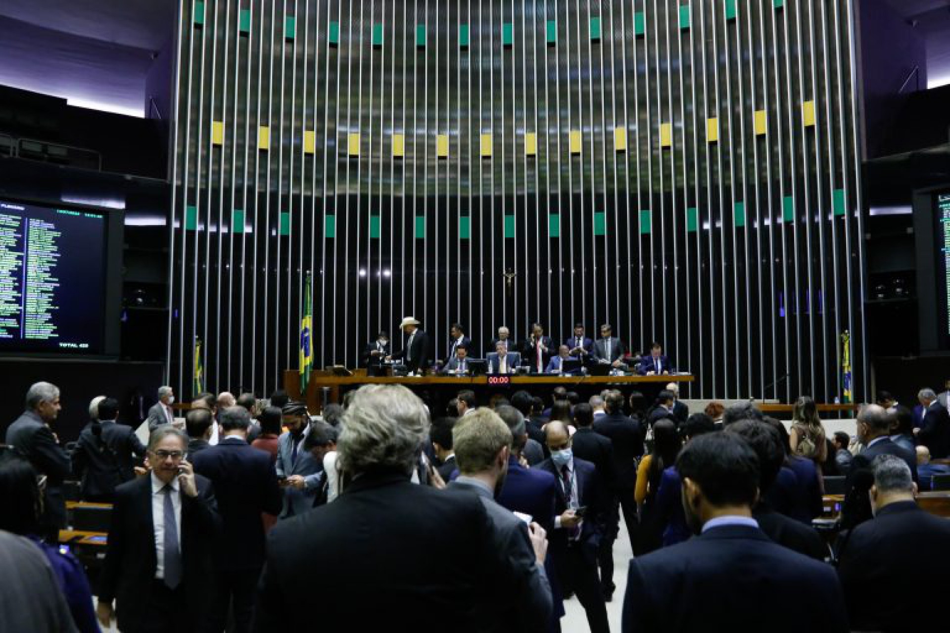
[[[646,434],[638,419],[623,415],[623,394],[618,390],[607,392],[604,409],[607,413],[594,422],[594,430],[610,439],[614,447],[614,498],[610,504],[605,536],[613,548],[618,534],[619,506],[631,536],[630,545],[633,547],[633,537],[637,533],[638,524],[637,500],[634,498],[637,488],[637,459],[643,456],[643,439]]]

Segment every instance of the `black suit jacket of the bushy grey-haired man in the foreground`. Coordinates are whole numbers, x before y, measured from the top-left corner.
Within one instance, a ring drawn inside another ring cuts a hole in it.
[[[319,614],[321,631],[409,631],[424,622],[479,630],[491,601],[511,600],[498,595],[510,572],[493,536],[475,494],[414,485],[405,473],[359,475],[333,503],[270,532],[253,628],[313,629],[303,591],[332,605]]]

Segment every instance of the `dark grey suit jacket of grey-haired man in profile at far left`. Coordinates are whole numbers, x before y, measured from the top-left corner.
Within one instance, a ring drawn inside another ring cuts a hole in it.
[[[66,527],[63,480],[69,475],[69,456],[53,438],[47,423],[36,413],[24,411],[7,429],[7,443],[29,460],[39,475],[47,475],[41,523],[50,534]]]

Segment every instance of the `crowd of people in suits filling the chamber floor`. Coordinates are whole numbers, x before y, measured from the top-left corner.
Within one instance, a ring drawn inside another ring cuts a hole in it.
[[[591,631],[609,631],[621,518],[635,554],[625,631],[944,620],[950,523],[915,501],[950,449],[929,389],[919,425],[882,393],[844,438],[826,437],[809,398],[787,428],[751,402],[690,415],[675,383],[651,403],[464,390],[436,412],[367,385],[320,416],[283,392],[266,406],[201,394],[183,429],[171,388],[159,396],[144,445],[115,400],[94,400],[70,455],[58,388],[30,387],[0,449],[5,630],[557,631],[576,596]],[[846,476],[833,543],[812,528],[829,472]],[[57,547],[71,475],[112,504],[93,586]]]

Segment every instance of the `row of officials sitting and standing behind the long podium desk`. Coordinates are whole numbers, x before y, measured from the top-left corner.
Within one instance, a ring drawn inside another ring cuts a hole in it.
[[[386,363],[401,363],[409,374],[431,370],[464,375],[470,371],[471,360],[482,360],[462,324],[453,323],[449,327],[444,357],[438,356],[438,350],[421,326],[413,317],[403,319],[399,328],[407,338],[403,349],[397,352],[392,351],[389,334],[380,331],[374,341],[366,344],[361,356],[368,373],[374,376]],[[518,342],[511,338],[507,326],[499,327],[498,338],[492,339],[485,348],[485,371],[489,374],[513,374],[519,370],[533,374],[580,374],[590,365],[603,365],[608,370],[641,376],[675,372],[661,344],[651,344],[649,353],[641,355],[614,336],[610,324],[600,326],[598,339],[589,338],[583,324],[575,324],[571,335],[561,344],[544,333],[542,324],[531,324],[528,332],[525,340]]]

